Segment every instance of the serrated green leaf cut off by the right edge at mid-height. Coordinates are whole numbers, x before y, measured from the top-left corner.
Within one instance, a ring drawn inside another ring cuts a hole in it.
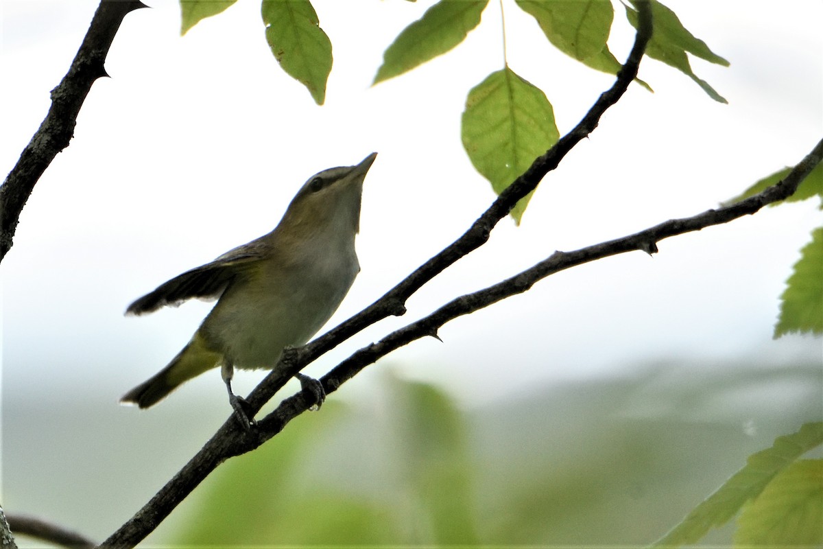
[[[811,231],[794,272],[780,295],[780,317],[774,337],[787,333],[823,334],[823,227]]]

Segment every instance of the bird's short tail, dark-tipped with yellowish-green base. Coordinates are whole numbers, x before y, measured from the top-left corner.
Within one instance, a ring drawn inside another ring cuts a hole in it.
[[[221,360],[221,354],[208,349],[200,333],[195,333],[192,341],[177,353],[169,365],[124,394],[120,402],[137,404],[141,408],[150,407],[174,391],[179,384],[215,368]]]

